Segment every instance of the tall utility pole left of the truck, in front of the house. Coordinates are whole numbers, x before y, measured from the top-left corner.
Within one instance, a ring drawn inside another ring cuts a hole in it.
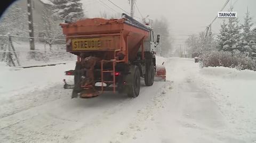
[[[35,50],[35,37],[34,37],[34,23],[33,23],[33,11],[31,7],[31,0],[27,0],[28,3],[28,29],[29,29],[29,45],[30,50]]]

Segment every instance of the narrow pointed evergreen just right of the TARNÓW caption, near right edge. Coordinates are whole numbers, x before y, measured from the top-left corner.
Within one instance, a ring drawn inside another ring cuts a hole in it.
[[[251,52],[251,45],[249,43],[251,40],[253,40],[253,33],[251,31],[252,26],[252,17],[250,16],[250,12],[247,10],[244,17],[244,24],[242,24],[243,32],[240,49],[242,53],[249,54]]]

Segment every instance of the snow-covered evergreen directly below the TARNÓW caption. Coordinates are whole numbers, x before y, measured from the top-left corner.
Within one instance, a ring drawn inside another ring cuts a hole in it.
[[[241,49],[239,46],[239,42],[241,40],[240,30],[238,18],[229,18],[228,20],[228,35],[227,40],[223,43],[223,51],[236,52]]]

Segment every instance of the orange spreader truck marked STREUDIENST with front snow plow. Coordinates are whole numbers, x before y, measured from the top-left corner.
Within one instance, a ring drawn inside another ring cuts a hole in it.
[[[140,93],[140,81],[152,86],[154,78],[165,80],[165,68],[157,69],[153,29],[126,14],[122,19],[84,19],[61,23],[67,52],[77,55],[72,98],[90,98],[104,91],[118,91],[129,97]],[[157,72],[158,70],[158,72]]]

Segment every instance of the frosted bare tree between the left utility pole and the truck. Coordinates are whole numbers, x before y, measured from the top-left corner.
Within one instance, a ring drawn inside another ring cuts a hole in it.
[[[52,14],[51,9],[45,9],[43,11],[43,27],[44,27],[44,43],[50,46],[52,50],[52,44],[54,41],[57,41],[57,38],[60,38],[62,35],[61,28],[57,22],[58,18]]]

